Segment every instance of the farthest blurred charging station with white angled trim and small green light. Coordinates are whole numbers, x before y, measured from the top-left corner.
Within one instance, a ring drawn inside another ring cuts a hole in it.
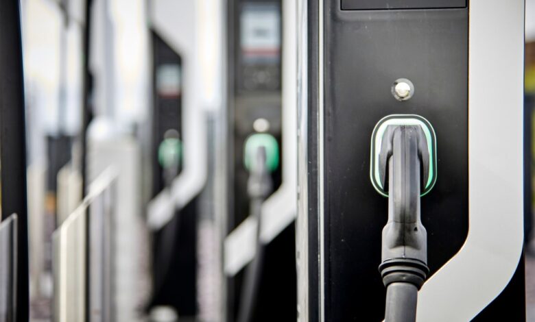
[[[209,122],[224,105],[223,9],[219,0],[159,0],[149,8],[152,162],[158,164],[147,206],[155,237],[150,308],[171,307],[180,319],[212,321],[223,314],[222,259],[214,256],[222,243],[222,217],[211,198],[213,171],[224,162],[209,150],[209,142],[222,139]]]

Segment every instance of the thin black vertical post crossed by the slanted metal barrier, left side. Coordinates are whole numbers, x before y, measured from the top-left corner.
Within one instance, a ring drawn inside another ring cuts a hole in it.
[[[88,179],[87,179],[87,127],[91,121],[91,102],[90,102],[90,90],[91,90],[91,73],[89,71],[89,53],[91,42],[91,4],[93,0],[86,0],[85,3],[85,25],[82,28],[83,32],[83,43],[82,43],[82,71],[83,71],[83,93],[82,93],[82,128],[80,129],[80,143],[82,145],[82,158],[80,162],[82,163],[82,198],[86,196]],[[91,285],[91,274],[89,269],[91,268],[90,262],[90,238],[91,238],[91,229],[89,223],[89,209],[86,209],[86,285],[85,285],[85,317],[86,321],[91,321],[91,312],[88,308],[91,308],[91,294],[89,292],[89,285]]]

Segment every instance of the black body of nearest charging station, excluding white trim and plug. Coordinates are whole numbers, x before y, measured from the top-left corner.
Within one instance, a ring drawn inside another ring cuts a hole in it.
[[[418,209],[432,277],[460,251],[469,228],[470,3],[309,0],[303,7],[308,306],[300,314],[382,321],[386,282],[378,267],[388,199],[370,180],[370,138],[381,119],[399,114],[421,116],[436,132],[438,177]],[[401,97],[400,79],[407,81]],[[475,321],[523,321],[523,278],[521,259],[506,290]]]

